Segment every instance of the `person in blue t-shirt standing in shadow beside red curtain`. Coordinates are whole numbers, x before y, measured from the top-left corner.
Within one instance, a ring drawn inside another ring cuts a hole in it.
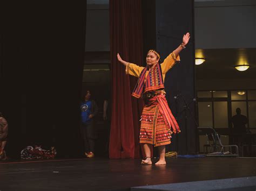
[[[95,101],[91,100],[90,90],[86,91],[83,98],[83,102],[80,104],[82,137],[85,155],[92,158],[94,157],[96,139],[94,119],[98,112],[98,106]]]

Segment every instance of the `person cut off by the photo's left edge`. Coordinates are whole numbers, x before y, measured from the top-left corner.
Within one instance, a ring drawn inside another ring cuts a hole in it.
[[[6,153],[4,147],[7,142],[8,123],[0,112],[0,160],[6,160]]]

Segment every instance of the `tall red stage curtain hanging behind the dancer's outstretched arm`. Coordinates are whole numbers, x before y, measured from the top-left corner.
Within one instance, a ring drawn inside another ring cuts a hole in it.
[[[110,0],[110,51],[112,77],[112,118],[109,155],[111,159],[138,158],[139,117],[142,100],[131,97],[137,79],[125,74],[123,60],[142,65],[142,2]]]

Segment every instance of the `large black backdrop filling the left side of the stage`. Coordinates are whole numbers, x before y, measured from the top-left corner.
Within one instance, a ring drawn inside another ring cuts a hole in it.
[[[6,152],[18,158],[25,146],[39,144],[56,146],[59,157],[78,155],[86,1],[5,4],[1,14]]]

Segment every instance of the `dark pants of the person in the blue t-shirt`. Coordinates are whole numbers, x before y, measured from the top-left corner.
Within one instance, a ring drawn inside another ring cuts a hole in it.
[[[96,133],[93,123],[82,124],[82,137],[84,141],[84,150],[85,152],[95,152],[95,139]]]

